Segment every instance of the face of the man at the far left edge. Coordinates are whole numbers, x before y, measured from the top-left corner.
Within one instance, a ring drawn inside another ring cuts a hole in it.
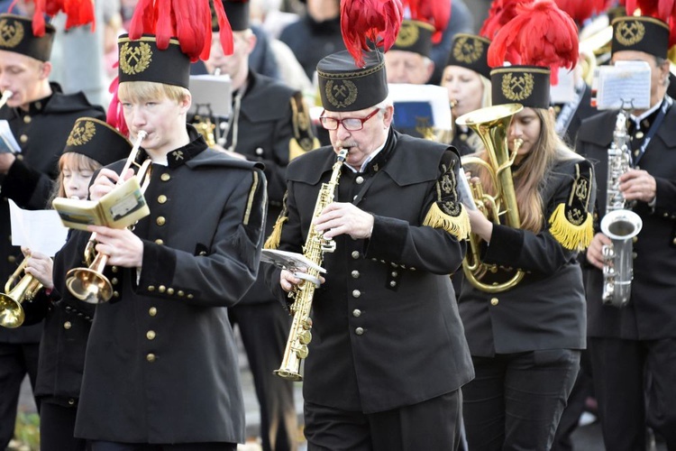
[[[13,92],[7,106],[28,106],[39,100],[41,84],[50,75],[50,63],[14,51],[0,51],[0,91]]]

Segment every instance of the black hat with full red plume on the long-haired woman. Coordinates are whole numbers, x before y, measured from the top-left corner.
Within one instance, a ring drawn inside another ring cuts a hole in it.
[[[550,78],[555,85],[560,67],[577,64],[579,45],[575,22],[553,0],[517,5],[489,47],[493,105],[548,108]]]

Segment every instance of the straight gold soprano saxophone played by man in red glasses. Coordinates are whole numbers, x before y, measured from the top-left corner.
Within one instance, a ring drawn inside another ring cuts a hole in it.
[[[338,187],[338,179],[340,179],[341,168],[343,161],[347,158],[347,152],[347,149],[341,149],[338,152],[338,159],[333,163],[331,179],[328,183],[323,183],[319,190],[315,211],[312,214],[313,218],[321,215],[324,208],[333,202],[333,195]],[[324,261],[324,253],[333,253],[333,251],[335,251],[333,238],[324,239],[324,234],[317,232],[315,224],[311,224],[307,233],[306,244],[303,246],[303,255],[315,263],[317,267],[321,267]],[[296,276],[302,281],[289,293],[289,297],[294,298],[290,308],[294,318],[291,323],[291,331],[288,334],[287,347],[284,350],[282,363],[279,370],[275,370],[274,373],[284,379],[302,381],[300,364],[307,357],[307,345],[312,340],[310,309],[312,308],[315,289],[319,287],[320,283],[319,270],[307,268],[307,272],[297,272]]]

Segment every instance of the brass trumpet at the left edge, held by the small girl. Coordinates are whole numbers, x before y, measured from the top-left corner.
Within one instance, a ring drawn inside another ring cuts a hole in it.
[[[21,273],[25,271],[29,258],[31,257],[26,257],[7,280],[5,293],[0,293],[0,326],[2,327],[14,329],[21,326],[26,318],[22,307],[23,302],[34,299],[38,291],[42,289],[41,282],[31,274],[25,274],[21,281],[14,285],[14,281],[19,279]]]

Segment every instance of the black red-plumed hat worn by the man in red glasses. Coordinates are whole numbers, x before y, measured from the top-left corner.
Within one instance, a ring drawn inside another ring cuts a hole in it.
[[[382,52],[397,40],[403,8],[399,0],[343,0],[341,32],[347,51],[317,63],[322,106],[327,111],[359,111],[388,97]],[[371,46],[375,44],[374,50]]]

